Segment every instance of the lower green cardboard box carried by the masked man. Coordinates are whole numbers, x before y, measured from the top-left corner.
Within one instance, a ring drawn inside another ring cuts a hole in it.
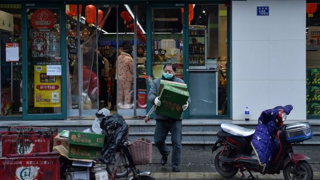
[[[186,104],[188,97],[188,91],[165,84],[159,98],[161,105],[155,108],[155,112],[180,119],[183,112],[182,106]]]

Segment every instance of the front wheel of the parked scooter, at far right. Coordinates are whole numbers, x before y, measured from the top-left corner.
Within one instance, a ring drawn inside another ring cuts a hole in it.
[[[284,168],[284,178],[286,180],[302,179],[311,180],[313,179],[313,171],[309,163],[306,161],[298,162],[298,166],[293,163],[288,163]]]

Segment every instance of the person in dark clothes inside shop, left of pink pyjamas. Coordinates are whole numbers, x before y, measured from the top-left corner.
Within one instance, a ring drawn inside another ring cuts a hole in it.
[[[99,99],[104,101],[104,107],[108,107],[108,76],[110,65],[106,57],[102,55],[101,51],[98,51],[98,74],[99,81],[101,83],[100,91],[102,92]]]

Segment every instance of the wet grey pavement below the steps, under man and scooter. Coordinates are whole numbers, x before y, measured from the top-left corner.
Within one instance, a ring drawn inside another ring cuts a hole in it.
[[[217,152],[212,154],[211,162],[211,148],[212,146],[183,146],[182,164],[180,172],[172,172],[171,168],[171,154],[169,155],[168,164],[162,166],[160,163],[161,155],[157,148],[153,146],[153,157],[151,165],[137,166],[140,171],[151,171],[151,176],[155,179],[224,179],[220,176],[214,168],[214,156]],[[170,147],[171,149],[171,147]],[[295,153],[302,153],[311,159],[308,161],[313,170],[313,179],[320,179],[320,153],[318,146],[298,145],[294,146]],[[248,172],[245,172],[246,177]],[[260,174],[253,173],[258,179],[284,179],[283,173],[280,174]],[[238,172],[233,177],[239,179],[241,174]]]

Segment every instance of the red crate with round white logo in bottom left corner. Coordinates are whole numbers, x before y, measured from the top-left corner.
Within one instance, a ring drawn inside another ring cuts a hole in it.
[[[56,152],[11,154],[0,158],[1,179],[60,179],[60,155]]]

